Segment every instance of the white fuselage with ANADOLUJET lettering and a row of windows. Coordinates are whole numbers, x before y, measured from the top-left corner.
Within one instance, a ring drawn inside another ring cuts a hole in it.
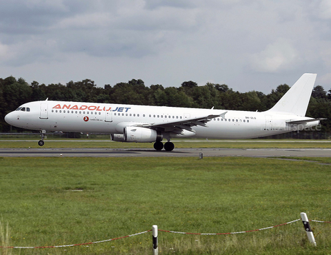
[[[312,118],[268,111],[245,112],[66,101],[35,101],[25,103],[20,108],[6,115],[7,123],[28,130],[62,132],[123,134],[123,128],[128,126],[166,124],[224,112],[226,112],[224,118],[222,116],[213,118],[206,123],[205,127],[197,125],[192,127],[194,132],[183,130],[176,136],[249,139],[303,130],[319,125],[319,121],[310,121],[299,126],[288,125],[287,122],[289,121],[311,120]],[[163,131],[167,132],[166,128]]]

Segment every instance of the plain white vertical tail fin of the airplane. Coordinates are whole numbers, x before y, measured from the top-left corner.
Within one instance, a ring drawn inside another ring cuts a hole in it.
[[[303,74],[267,112],[285,112],[305,116],[316,76],[317,74]]]

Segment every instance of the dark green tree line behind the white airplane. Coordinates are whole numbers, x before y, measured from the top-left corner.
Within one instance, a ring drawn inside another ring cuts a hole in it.
[[[146,86],[141,79],[127,83],[97,87],[94,81],[69,81],[66,85],[27,83],[23,78],[0,78],[0,132],[8,132],[10,126],[3,117],[19,105],[30,101],[59,100],[94,103],[123,103],[134,105],[158,105],[185,108],[212,108],[263,112],[281,99],[289,90],[287,84],[279,85],[270,94],[263,92],[237,92],[226,84],[206,83],[198,86],[194,81],[184,81],[179,88],[163,85]],[[306,116],[323,117],[321,132],[331,132],[331,89],[326,92],[321,85],[314,87]]]

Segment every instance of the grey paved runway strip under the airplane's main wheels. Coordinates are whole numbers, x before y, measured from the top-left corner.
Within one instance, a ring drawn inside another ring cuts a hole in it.
[[[202,153],[202,155],[201,155]],[[331,149],[225,149],[225,148],[175,148],[172,152],[156,151],[154,149],[109,149],[109,148],[0,148],[2,157],[124,157],[124,156],[249,156],[249,157],[279,157],[279,156],[331,156]]]

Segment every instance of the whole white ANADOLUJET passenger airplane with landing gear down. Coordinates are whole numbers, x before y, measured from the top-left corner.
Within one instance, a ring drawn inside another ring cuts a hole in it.
[[[155,150],[174,150],[178,137],[251,139],[304,130],[323,118],[305,116],[317,74],[303,74],[290,90],[265,112],[175,108],[116,103],[34,101],[5,116],[18,128],[39,130],[40,146],[48,132],[108,133],[112,141],[154,143]],[[163,144],[163,139],[166,142]]]

